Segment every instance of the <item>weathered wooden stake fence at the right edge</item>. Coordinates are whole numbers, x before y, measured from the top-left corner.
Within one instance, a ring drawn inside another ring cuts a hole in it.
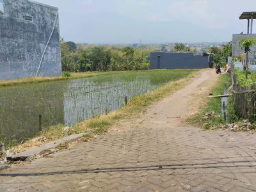
[[[256,84],[250,86],[240,86],[237,83],[235,74],[235,65],[230,65],[230,74],[232,81],[232,101],[236,115],[242,118],[248,118],[254,122],[256,120]]]

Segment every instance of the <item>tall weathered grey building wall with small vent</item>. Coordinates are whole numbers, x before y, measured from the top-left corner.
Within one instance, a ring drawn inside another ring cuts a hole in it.
[[[0,80],[60,75],[58,8],[0,0]]]

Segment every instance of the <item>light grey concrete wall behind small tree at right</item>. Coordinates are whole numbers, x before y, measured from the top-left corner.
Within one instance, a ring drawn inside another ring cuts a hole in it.
[[[239,46],[239,42],[240,42],[240,40],[245,39],[245,38],[256,38],[256,34],[233,34],[232,57],[237,57],[244,52],[244,49],[241,49],[241,47]],[[250,53],[248,54],[248,58],[250,60],[253,59],[253,55],[255,56],[255,51],[256,51],[256,46],[253,46],[251,48],[252,54],[250,54]],[[245,54],[244,54],[244,58],[245,58]]]

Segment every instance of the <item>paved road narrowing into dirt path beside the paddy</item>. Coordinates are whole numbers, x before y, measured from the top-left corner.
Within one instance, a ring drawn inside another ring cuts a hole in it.
[[[254,134],[201,131],[214,70],[91,142],[1,173],[1,191],[256,191]]]

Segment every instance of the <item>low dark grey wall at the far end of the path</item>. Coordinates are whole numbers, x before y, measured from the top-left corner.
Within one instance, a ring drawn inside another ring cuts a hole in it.
[[[196,55],[193,52],[151,52],[150,69],[183,69],[207,68],[209,57]]]

